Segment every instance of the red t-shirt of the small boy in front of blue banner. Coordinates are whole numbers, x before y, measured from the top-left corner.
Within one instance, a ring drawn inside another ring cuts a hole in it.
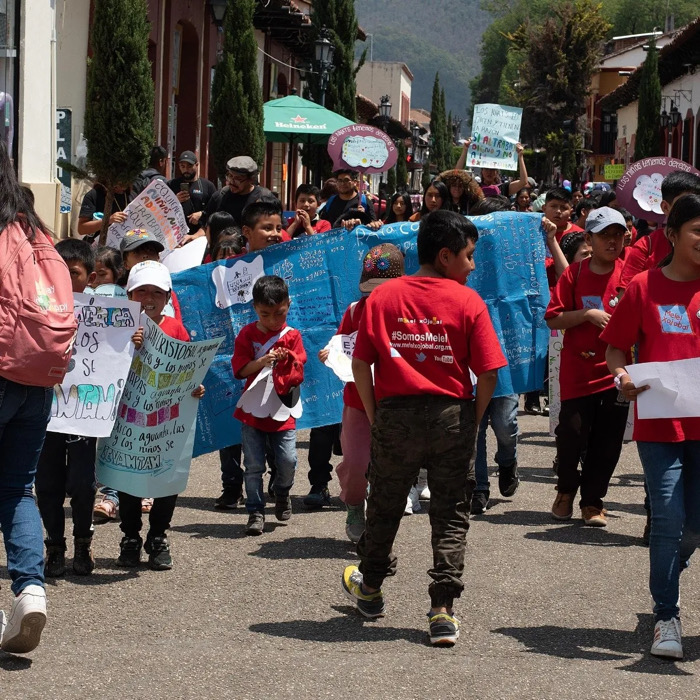
[[[286,327],[283,326],[280,330]],[[261,331],[258,328],[257,322],[249,323],[247,326],[241,328],[240,333],[236,336],[236,340],[233,344],[233,357],[231,358],[231,364],[233,366],[233,376],[236,379],[242,379],[240,376],[240,371],[249,363],[255,359],[255,353],[267,343],[270,338],[277,335],[279,331]],[[274,345],[270,347],[273,348],[287,348],[290,351],[290,359],[282,364],[275,365],[274,373],[283,374],[283,383],[288,389],[291,387],[299,386],[304,381],[304,363],[306,362],[306,352],[304,350],[304,345],[301,342],[301,334],[299,331],[292,329],[291,331],[285,333]],[[246,378],[245,389],[247,389],[252,383],[258,372],[251,374]],[[275,386],[277,386],[277,381]],[[296,421],[293,417],[289,417],[284,423],[274,420],[272,417],[267,416],[265,418],[257,418],[256,416],[246,413],[241,408],[236,408],[233,414],[234,418],[238,418],[241,423],[251,426],[252,428],[257,428],[265,433],[277,433],[282,430],[294,430],[296,427]]]

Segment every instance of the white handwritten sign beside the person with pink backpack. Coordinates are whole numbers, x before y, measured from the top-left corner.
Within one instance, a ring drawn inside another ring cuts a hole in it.
[[[129,372],[140,305],[126,299],[74,294],[78,331],[62,384],[53,391],[53,433],[106,437],[112,432]]]

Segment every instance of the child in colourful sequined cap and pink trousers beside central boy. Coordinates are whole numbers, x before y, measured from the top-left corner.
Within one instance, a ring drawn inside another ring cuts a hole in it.
[[[348,306],[336,335],[354,338],[360,327],[365,304],[370,292],[387,280],[404,274],[403,253],[391,243],[382,243],[372,248],[362,261],[360,292],[362,298]],[[318,359],[325,362],[328,350],[318,353]],[[365,496],[367,495],[367,465],[370,460],[370,422],[354,382],[348,382],[343,391],[343,421],[340,431],[340,444],[343,459],[338,465],[340,500],[345,503],[347,516],[345,534],[351,542],[357,543],[365,529]]]

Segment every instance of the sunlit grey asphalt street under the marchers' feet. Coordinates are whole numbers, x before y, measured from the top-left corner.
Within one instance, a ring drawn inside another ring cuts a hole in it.
[[[635,445],[625,446],[613,477],[608,528],[584,528],[549,515],[547,420],[523,415],[520,425],[519,490],[503,499],[492,477],[492,507],[471,521],[453,649],[427,639],[425,511],[403,519],[399,570],[384,585],[387,616],[365,621],[343,597],[340,577],[354,548],[337,498],[320,512],[302,507],[308,433],[300,432],[294,515],[279,524],[270,510],[262,537],[245,536],[242,509],[213,510],[218,455],[192,464],[170,534],[172,571],[117,569],[119,527],[97,526],[95,573],[47,585],[40,647],[26,656],[0,652],[0,698],[696,698],[698,563],[682,579],[685,660],[648,654],[653,618]],[[493,464],[492,435],[489,446]],[[330,486],[337,496],[337,480]],[[3,551],[7,610],[4,564]]]

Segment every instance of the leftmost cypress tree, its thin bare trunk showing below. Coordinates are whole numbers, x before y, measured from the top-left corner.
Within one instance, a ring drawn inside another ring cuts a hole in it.
[[[90,34],[85,138],[88,167],[106,188],[104,245],[114,187],[131,184],[153,145],[153,80],[146,0],[98,0]]]

